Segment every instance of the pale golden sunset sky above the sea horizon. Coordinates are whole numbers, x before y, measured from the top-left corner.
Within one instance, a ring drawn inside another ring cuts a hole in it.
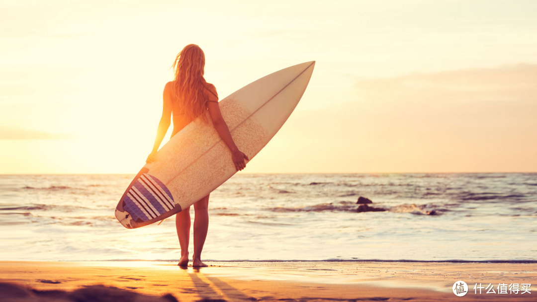
[[[0,174],[139,171],[188,43],[221,98],[316,61],[245,173],[536,172],[535,12],[533,0],[0,0]]]

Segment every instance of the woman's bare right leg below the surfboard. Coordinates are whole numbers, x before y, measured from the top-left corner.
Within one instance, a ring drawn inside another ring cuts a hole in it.
[[[207,207],[209,205],[209,195],[201,198],[194,203],[194,257],[192,257],[193,267],[206,267],[207,264],[201,262],[201,250],[205,244],[207,237],[207,229],[209,228],[209,213]]]

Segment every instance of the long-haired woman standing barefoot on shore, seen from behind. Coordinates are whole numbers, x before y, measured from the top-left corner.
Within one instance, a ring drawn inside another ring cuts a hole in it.
[[[173,113],[173,131],[171,136],[177,134],[188,123],[201,115],[201,119],[209,122],[205,111],[208,109],[213,126],[231,151],[231,157],[237,171],[243,170],[246,166],[244,159],[248,160],[246,154],[239,151],[228,126],[218,106],[218,94],[214,85],[205,82],[205,54],[197,45],[189,44],[180,51],[172,65],[175,68],[175,79],[164,86],[164,105],[162,108],[161,121],[158,123],[157,137],[153,151],[147,157],[147,163],[156,159],[156,152],[160,146],[166,131],[170,127],[170,116]],[[193,267],[206,267],[207,264],[201,262],[201,250],[207,237],[209,226],[209,216],[207,206],[209,195],[194,203],[194,257]],[[188,241],[190,239],[190,207],[177,213],[175,225],[177,237],[181,246],[181,258],[179,266],[188,265]]]

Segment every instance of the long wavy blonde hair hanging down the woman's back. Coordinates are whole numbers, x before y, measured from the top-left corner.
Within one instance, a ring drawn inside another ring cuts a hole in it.
[[[188,44],[181,50],[172,68],[175,69],[175,78],[173,79],[173,97],[174,102],[181,100],[182,114],[185,117],[194,120],[198,116],[207,120],[204,111],[206,100],[203,90],[207,85],[205,81],[205,54],[201,48],[195,44]]]

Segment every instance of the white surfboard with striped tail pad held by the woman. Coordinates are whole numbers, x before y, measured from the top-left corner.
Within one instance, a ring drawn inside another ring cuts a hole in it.
[[[311,61],[276,71],[219,102],[235,144],[250,160],[287,121],[314,66]],[[177,132],[136,174],[115,209],[123,226],[135,229],[168,218],[237,172],[229,148],[207,120],[198,117]]]

